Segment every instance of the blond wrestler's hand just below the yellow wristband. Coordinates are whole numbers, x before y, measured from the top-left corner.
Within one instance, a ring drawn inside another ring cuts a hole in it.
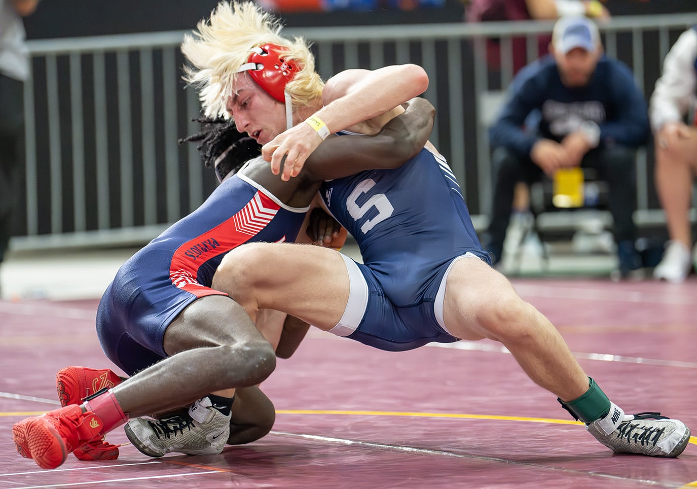
[[[321,142],[322,138],[309,124],[299,123],[264,144],[261,154],[264,160],[271,162],[273,174],[280,173],[282,180],[289,181],[291,176],[298,176],[307,157]]]

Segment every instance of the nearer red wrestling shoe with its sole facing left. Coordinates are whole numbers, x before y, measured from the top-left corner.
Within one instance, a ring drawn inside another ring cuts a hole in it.
[[[20,455],[31,454],[42,469],[55,469],[77,447],[101,439],[102,428],[93,412],[70,405],[15,423],[12,437]]]

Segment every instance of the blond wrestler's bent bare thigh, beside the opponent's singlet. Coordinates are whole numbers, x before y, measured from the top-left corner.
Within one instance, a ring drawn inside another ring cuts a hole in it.
[[[227,292],[247,310],[279,310],[327,330],[344,313],[349,282],[344,258],[335,250],[249,243],[227,254],[213,288]]]

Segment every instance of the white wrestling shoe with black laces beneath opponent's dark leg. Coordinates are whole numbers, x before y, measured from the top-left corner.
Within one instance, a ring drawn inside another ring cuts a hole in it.
[[[197,400],[188,415],[162,419],[135,418],[125,425],[130,442],[151,457],[170,452],[186,455],[217,455],[230,436],[230,417],[213,407],[210,399]]]

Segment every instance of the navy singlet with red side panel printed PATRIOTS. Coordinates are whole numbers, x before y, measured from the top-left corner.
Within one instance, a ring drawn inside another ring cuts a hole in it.
[[[241,174],[218,186],[199,209],[128,259],[97,312],[105,354],[129,375],[167,356],[164,331],[206,295],[224,255],[252,241],[294,241],[308,208],[282,204]]]

